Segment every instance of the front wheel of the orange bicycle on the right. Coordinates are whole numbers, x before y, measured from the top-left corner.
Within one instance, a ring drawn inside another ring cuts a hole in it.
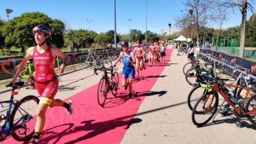
[[[192,111],[192,122],[196,126],[203,126],[213,118],[217,112],[219,96],[217,92],[207,92],[201,96]]]

